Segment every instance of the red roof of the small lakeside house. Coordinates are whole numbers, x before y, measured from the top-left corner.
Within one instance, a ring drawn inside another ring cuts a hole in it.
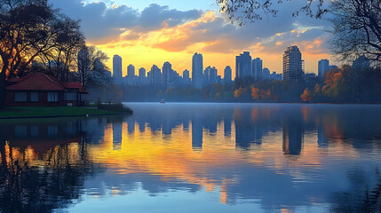
[[[21,78],[11,78],[6,87],[7,91],[67,91],[77,90],[87,93],[81,83],[61,83],[52,75],[43,73],[30,73]]]

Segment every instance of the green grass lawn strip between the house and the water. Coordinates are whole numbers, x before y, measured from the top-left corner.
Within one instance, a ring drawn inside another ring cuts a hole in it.
[[[0,110],[0,118],[28,116],[77,116],[77,115],[117,114],[110,110],[96,108],[62,106],[62,107],[8,107]]]

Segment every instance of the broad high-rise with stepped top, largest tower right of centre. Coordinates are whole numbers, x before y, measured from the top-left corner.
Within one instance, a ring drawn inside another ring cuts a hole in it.
[[[298,46],[290,46],[283,54],[283,80],[298,83],[303,79],[302,53]]]

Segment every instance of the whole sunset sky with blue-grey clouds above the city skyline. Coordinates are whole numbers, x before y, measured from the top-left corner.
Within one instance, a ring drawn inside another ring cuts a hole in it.
[[[127,66],[163,67],[165,61],[182,75],[191,70],[192,55],[201,52],[203,66],[235,67],[235,56],[250,51],[252,58],[263,59],[264,67],[282,73],[282,53],[287,46],[298,45],[306,61],[306,73],[317,73],[320,59],[333,61],[329,52],[329,21],[314,20],[292,12],[306,4],[293,0],[274,7],[280,12],[275,18],[246,22],[242,27],[231,24],[226,14],[219,12],[215,0],[156,1],[81,1],[51,0],[69,17],[81,20],[88,44],[96,45],[110,58],[123,59],[123,75]],[[335,62],[333,61],[332,64]]]

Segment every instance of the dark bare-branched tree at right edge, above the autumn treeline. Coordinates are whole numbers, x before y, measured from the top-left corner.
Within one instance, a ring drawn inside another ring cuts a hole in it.
[[[332,51],[341,59],[366,54],[381,61],[381,0],[337,0],[331,8]]]

